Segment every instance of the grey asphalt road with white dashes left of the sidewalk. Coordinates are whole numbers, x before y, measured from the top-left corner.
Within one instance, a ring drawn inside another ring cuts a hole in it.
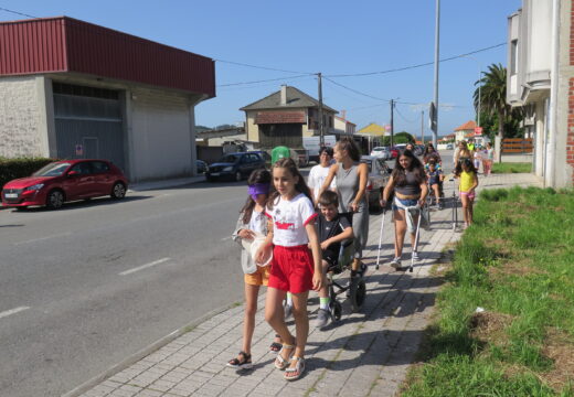
[[[241,301],[245,183],[0,212],[0,395],[59,396]]]

